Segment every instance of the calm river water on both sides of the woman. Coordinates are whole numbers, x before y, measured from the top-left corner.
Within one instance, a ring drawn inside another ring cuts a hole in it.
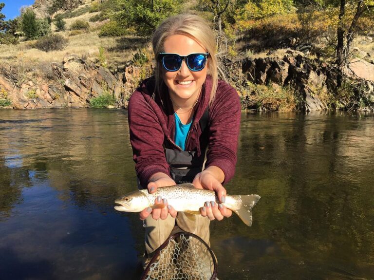
[[[262,198],[211,224],[219,279],[374,279],[373,144],[370,113],[243,113],[226,188]],[[138,279],[135,188],[127,111],[0,111],[0,279]]]

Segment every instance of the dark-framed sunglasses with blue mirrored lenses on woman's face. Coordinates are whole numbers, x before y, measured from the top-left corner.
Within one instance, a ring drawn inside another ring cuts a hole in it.
[[[196,72],[204,69],[208,56],[209,53],[189,54],[188,56],[161,53],[158,55],[158,58],[161,60],[162,66],[164,66],[166,71],[178,71],[182,66],[182,60],[185,60],[188,69]]]

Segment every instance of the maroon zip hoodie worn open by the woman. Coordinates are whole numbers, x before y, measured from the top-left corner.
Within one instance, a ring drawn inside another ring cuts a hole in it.
[[[208,75],[195,107],[186,150],[196,151],[199,156],[208,146],[205,167],[221,168],[224,171],[224,184],[235,172],[241,105],[236,90],[219,81],[215,99],[209,106],[208,139],[200,137],[199,120],[208,108],[211,87],[212,81]],[[129,102],[130,141],[136,174],[143,187],[157,172],[170,176],[164,147],[180,150],[174,143],[175,118],[168,89],[164,84],[162,94],[152,98],[153,89],[154,79],[145,80],[132,93]]]

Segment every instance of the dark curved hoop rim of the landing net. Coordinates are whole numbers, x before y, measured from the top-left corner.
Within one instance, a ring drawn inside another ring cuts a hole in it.
[[[157,250],[154,252],[153,257],[151,258],[150,262],[148,263],[146,269],[144,270],[141,280],[145,280],[147,278],[148,273],[150,272],[151,265],[157,261],[157,259],[161,255],[161,252],[168,246],[170,241],[175,240],[176,238],[180,237],[181,235],[184,235],[187,238],[188,237],[193,237],[205,246],[205,248],[209,252],[211,260],[213,262],[213,272],[212,272],[212,276],[210,277],[209,280],[216,280],[216,278],[217,278],[217,261],[216,261],[216,258],[214,256],[214,254],[213,254],[213,251],[210,249],[209,245],[202,238],[200,238],[196,234],[186,232],[186,231],[181,231],[181,232],[174,233],[173,235],[169,236],[168,239],[164,243],[162,243],[160,247],[157,248]]]

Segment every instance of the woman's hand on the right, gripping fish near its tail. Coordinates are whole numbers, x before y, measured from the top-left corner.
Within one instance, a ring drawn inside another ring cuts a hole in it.
[[[221,168],[211,166],[198,173],[193,179],[192,184],[196,188],[205,188],[215,191],[218,199],[221,203],[225,202],[226,189],[222,186],[220,181],[217,179],[224,180],[224,173]],[[203,207],[200,208],[200,213],[204,217],[208,217],[209,220],[221,221],[224,217],[230,217],[232,211],[227,209],[223,204],[217,204],[215,201],[207,201]]]

